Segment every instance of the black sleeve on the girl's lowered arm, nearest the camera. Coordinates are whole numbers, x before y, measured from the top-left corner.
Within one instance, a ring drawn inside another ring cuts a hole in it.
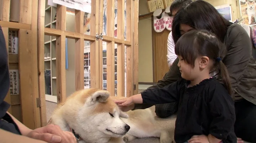
[[[214,88],[215,87],[215,88]],[[218,139],[226,139],[230,131],[234,131],[235,107],[228,91],[220,83],[210,87],[209,110],[212,122],[209,133]]]

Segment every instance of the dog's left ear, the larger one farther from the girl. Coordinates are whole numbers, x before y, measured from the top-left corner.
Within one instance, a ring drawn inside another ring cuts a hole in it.
[[[94,94],[92,94],[90,103],[91,104],[94,104],[96,102],[105,103],[109,96],[110,96],[110,93],[108,91],[105,91],[105,90],[96,91]]]

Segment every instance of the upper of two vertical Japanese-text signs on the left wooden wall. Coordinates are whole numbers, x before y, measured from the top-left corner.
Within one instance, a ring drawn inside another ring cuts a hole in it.
[[[9,31],[9,54],[18,54],[18,32],[17,31]]]

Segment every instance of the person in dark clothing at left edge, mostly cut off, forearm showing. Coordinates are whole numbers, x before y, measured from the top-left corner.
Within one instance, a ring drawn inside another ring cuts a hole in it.
[[[1,143],[76,143],[73,133],[62,131],[57,125],[35,130],[23,125],[7,112],[10,104],[4,101],[9,91],[9,67],[4,34],[0,26],[0,142]]]

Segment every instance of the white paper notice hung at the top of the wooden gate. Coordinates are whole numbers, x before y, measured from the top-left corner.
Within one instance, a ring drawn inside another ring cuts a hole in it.
[[[91,0],[53,0],[53,3],[91,13]]]

